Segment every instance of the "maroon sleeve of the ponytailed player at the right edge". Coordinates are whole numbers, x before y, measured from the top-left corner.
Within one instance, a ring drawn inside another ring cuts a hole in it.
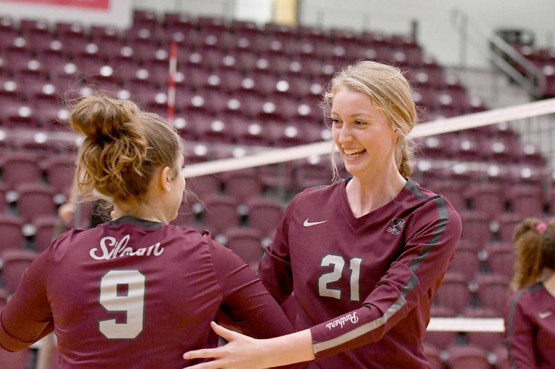
[[[522,306],[523,294],[515,294],[505,316],[506,344],[511,368],[536,368],[533,325]]]

